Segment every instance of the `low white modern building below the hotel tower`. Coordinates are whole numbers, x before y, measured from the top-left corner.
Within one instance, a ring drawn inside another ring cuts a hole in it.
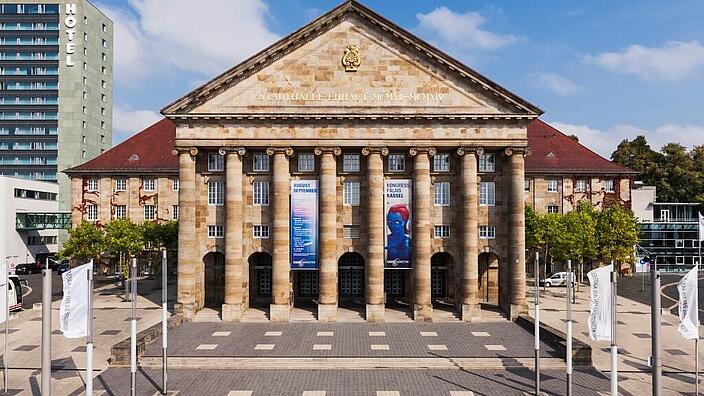
[[[38,213],[55,213],[58,208],[56,183],[0,176],[0,207],[0,258],[10,268],[37,260],[44,263],[56,253],[58,231],[35,226]],[[30,213],[34,217],[27,219]]]

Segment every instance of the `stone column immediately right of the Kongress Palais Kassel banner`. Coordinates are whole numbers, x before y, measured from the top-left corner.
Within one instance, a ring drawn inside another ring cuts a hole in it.
[[[413,251],[413,319],[416,321],[433,320],[433,304],[430,296],[430,157],[435,149],[429,147],[411,148],[413,161],[413,210],[411,230]]]

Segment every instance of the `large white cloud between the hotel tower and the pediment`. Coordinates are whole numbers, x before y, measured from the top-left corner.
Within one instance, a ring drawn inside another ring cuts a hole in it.
[[[115,77],[125,81],[174,69],[211,77],[278,39],[263,0],[130,0],[101,6],[115,24]]]

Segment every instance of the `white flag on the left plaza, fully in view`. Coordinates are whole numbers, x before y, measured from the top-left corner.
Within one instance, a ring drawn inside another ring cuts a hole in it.
[[[66,338],[85,337],[88,327],[88,271],[93,260],[61,275],[64,298],[59,308],[59,329]]]

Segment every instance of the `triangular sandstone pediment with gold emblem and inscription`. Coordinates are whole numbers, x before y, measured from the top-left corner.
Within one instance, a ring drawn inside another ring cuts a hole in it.
[[[162,112],[529,117],[541,113],[355,1],[338,6]]]

